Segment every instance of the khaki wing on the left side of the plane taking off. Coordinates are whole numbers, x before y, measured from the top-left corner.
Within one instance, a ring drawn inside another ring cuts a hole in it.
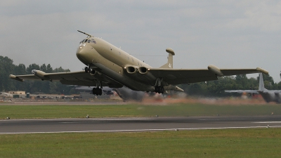
[[[27,75],[10,75],[11,79],[18,81],[28,80],[48,80],[60,81],[62,84],[78,85],[78,86],[96,86],[96,81],[102,81],[102,86],[109,86],[110,88],[120,88],[122,84],[117,83],[113,79],[106,77],[103,74],[91,74],[85,71],[79,72],[58,72],[58,73],[45,73],[35,70],[35,74]],[[33,73],[33,72],[32,72]]]

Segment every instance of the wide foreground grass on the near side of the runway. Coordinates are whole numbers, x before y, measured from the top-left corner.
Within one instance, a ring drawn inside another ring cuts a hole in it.
[[[0,135],[0,157],[280,157],[281,129]]]

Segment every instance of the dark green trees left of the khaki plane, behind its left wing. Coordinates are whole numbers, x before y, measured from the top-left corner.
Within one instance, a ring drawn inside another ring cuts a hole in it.
[[[26,91],[27,93],[53,93],[72,94],[76,93],[73,86],[61,84],[59,81],[15,81],[10,79],[10,74],[22,75],[32,74],[32,70],[41,70],[46,73],[70,72],[69,69],[58,67],[53,69],[50,64],[41,66],[33,63],[27,67],[24,64],[15,65],[13,60],[0,55],[0,91]]]

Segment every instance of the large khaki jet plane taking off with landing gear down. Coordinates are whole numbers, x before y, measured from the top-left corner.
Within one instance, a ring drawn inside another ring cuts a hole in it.
[[[78,30],[78,32],[81,32]],[[268,71],[256,69],[219,69],[209,65],[207,69],[173,69],[174,51],[169,53],[168,62],[162,67],[153,68],[129,53],[113,46],[107,41],[86,34],[76,51],[77,58],[86,65],[84,71],[45,73],[32,70],[28,75],[10,75],[11,79],[41,79],[42,81],[60,81],[62,84],[78,86],[96,86],[93,94],[101,95],[103,86],[121,88],[126,86],[133,91],[166,93],[167,90],[183,91],[177,84],[216,80],[218,77],[236,74],[252,74]]]

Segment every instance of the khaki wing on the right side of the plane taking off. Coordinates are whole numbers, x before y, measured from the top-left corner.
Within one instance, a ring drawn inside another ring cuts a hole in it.
[[[218,69],[214,65],[209,65],[208,69],[188,70],[188,69],[159,69],[150,68],[148,73],[151,73],[155,78],[163,78],[166,84],[191,84],[201,81],[212,81],[217,77],[231,76],[237,74],[252,74],[263,72],[268,74],[266,70],[259,67],[256,69]]]

